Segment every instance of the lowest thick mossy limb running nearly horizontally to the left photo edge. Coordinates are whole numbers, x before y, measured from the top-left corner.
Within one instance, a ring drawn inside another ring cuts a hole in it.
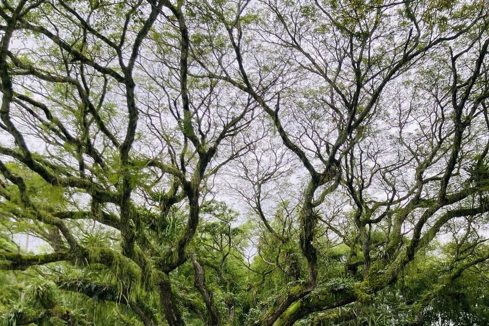
[[[26,269],[30,266],[43,265],[57,261],[72,260],[72,252],[61,251],[51,254],[22,255],[14,253],[0,254],[0,269]]]

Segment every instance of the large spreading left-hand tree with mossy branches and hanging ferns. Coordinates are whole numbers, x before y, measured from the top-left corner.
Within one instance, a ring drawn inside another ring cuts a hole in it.
[[[138,312],[141,289],[181,324],[168,274],[189,257],[207,180],[246,151],[239,132],[254,111],[246,96],[223,99],[224,83],[188,77],[182,15],[165,1],[2,8],[1,151],[16,162],[0,163],[4,221],[30,225],[54,250],[6,251],[5,266],[101,264],[146,324],[156,321]],[[185,221],[172,225],[175,214]],[[84,245],[109,230],[115,242]]]

